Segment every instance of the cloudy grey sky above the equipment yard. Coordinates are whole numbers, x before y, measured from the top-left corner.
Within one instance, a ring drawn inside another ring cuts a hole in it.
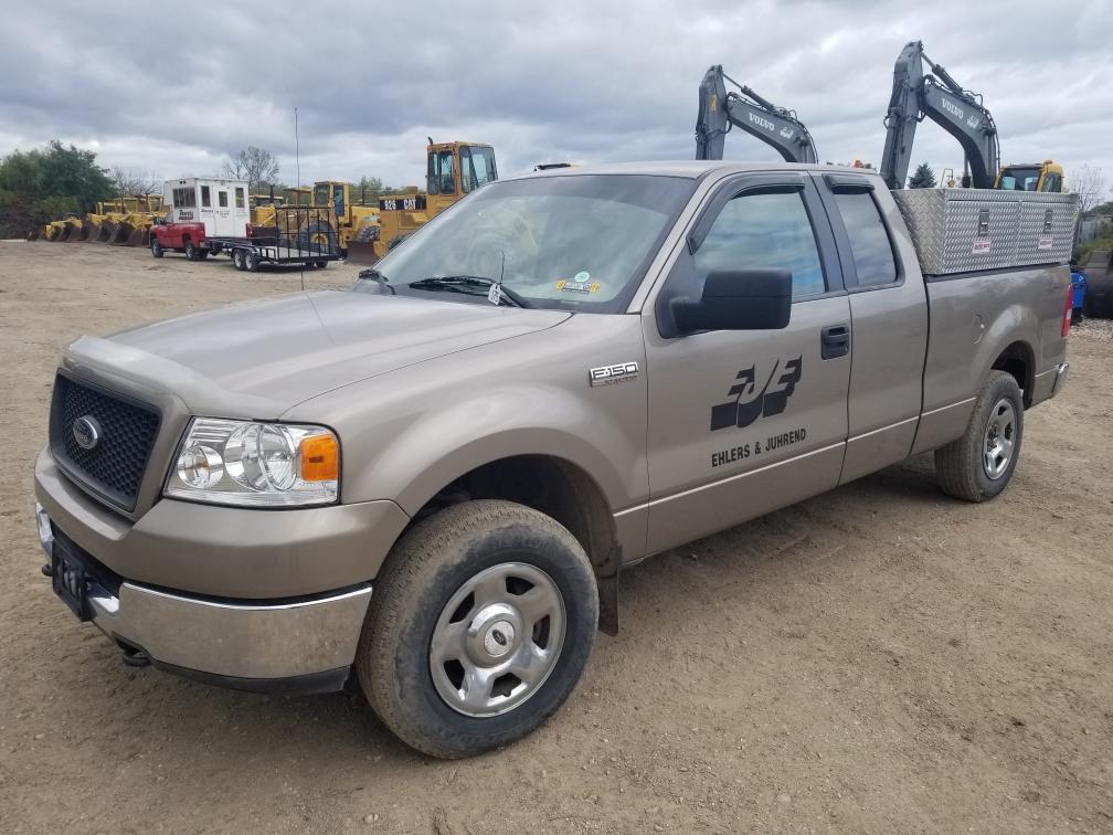
[[[691,158],[697,87],[722,63],[796,109],[820,159],[877,165],[893,62],[918,39],[984,94],[1003,161],[1113,180],[1111,0],[2,2],[0,153],[58,137],[178,177],[250,144],[293,181],[296,106],[303,181],[418,184],[426,136],[491,143],[504,174]],[[779,159],[741,131],[727,156]],[[963,163],[928,121],[915,159]]]

